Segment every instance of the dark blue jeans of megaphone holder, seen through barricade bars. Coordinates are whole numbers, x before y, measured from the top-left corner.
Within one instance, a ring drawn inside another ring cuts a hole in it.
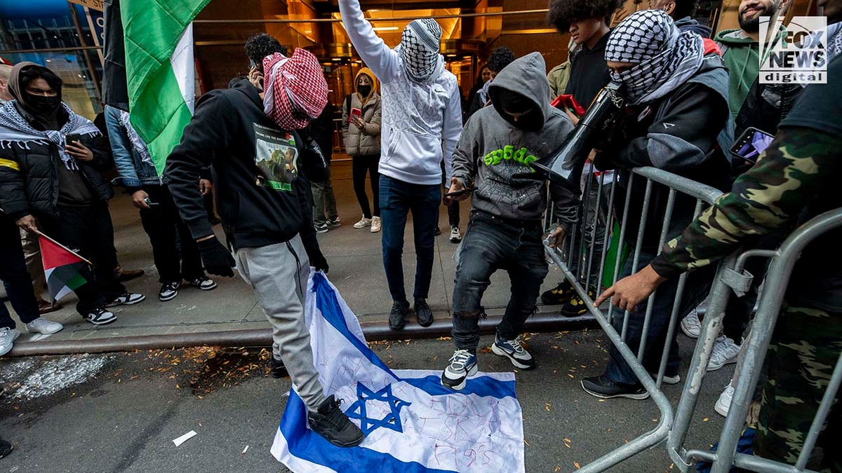
[[[641,252],[638,268],[645,267],[654,258],[655,255],[653,253]],[[630,257],[626,261],[626,266],[623,267],[620,279],[632,274],[632,259]],[[702,300],[705,300],[707,293],[711,290],[711,282],[713,281],[715,270],[716,266],[709,266],[688,274],[676,323],[684,318],[695,306],[698,306]],[[668,279],[658,286],[658,292],[655,294],[649,321],[646,349],[644,350],[645,353],[643,353],[643,366],[652,374],[658,373],[658,365],[661,363],[661,353],[663,353],[663,345],[666,343],[667,329],[669,328],[669,314],[673,311],[675,290],[678,288],[678,285],[678,278]],[[640,346],[643,319],[646,316],[646,306],[647,301],[644,300],[637,305],[637,311],[629,313],[629,325],[626,329],[626,344],[635,354],[637,354],[637,348]],[[612,325],[617,333],[622,334],[623,311],[615,307],[613,315],[614,320],[612,321]],[[679,365],[681,363],[679,346],[675,340],[678,332],[678,326],[676,325],[672,343],[669,346],[669,357],[665,371],[665,374],[670,376],[679,373]],[[609,359],[608,366],[605,367],[605,376],[616,383],[637,385],[639,383],[637,376],[634,375],[626,360],[623,359],[613,344],[608,354]]]

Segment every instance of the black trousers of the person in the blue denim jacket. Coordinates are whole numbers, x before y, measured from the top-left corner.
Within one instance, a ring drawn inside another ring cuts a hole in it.
[[[199,246],[181,220],[167,186],[144,185],[143,190],[149,194],[153,204],[149,209],[141,209],[141,225],[152,245],[158,282],[180,283],[182,279],[192,281],[204,276]],[[180,255],[176,238],[179,239]]]

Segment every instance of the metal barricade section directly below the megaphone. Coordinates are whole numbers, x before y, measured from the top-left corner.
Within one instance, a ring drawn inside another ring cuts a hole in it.
[[[621,178],[621,174],[623,174],[623,178]],[[695,200],[695,205],[691,205],[693,207],[692,210],[690,210],[692,215],[680,215],[682,221],[689,222],[690,217],[695,218],[695,216],[699,215],[702,208],[706,205],[711,205],[713,200],[717,199],[722,192],[710,186],[697,183],[688,178],[682,178],[654,167],[639,167],[634,169],[632,172],[616,173],[610,180],[609,191],[605,190],[605,186],[609,185],[609,183],[605,182],[605,175],[595,178],[593,173],[586,173],[586,178],[584,180],[586,181],[583,192],[583,196],[585,197],[583,199],[583,204],[581,205],[580,215],[590,215],[590,219],[583,218],[579,220],[580,223],[573,228],[571,235],[568,237],[565,250],[557,250],[546,247],[546,254],[558,265],[559,268],[561,268],[565,278],[573,285],[573,288],[582,300],[584,300],[585,306],[594,316],[596,321],[600,323],[600,326],[605,331],[605,334],[609,337],[610,342],[616,347],[622,358],[625,359],[626,363],[634,372],[634,375],[637,376],[637,379],[640,380],[643,387],[649,393],[649,396],[652,397],[655,405],[658,407],[658,411],[660,412],[660,418],[655,428],[647,433],[643,433],[637,438],[629,440],[628,443],[622,445],[618,449],[610,451],[608,454],[594,460],[589,465],[584,465],[582,467],[582,471],[601,471],[612,465],[620,463],[622,460],[628,459],[632,455],[637,454],[644,449],[651,448],[654,445],[663,442],[669,434],[669,429],[673,425],[674,412],[669,400],[663,395],[663,392],[661,392],[660,385],[663,382],[663,375],[667,366],[671,341],[674,337],[674,332],[678,324],[678,312],[680,308],[679,302],[682,300],[682,295],[685,290],[685,279],[687,278],[687,275],[684,274],[679,279],[674,299],[675,302],[669,318],[669,327],[666,332],[666,343],[664,343],[663,351],[660,356],[660,362],[658,364],[658,374],[653,379],[652,375],[650,375],[643,365],[643,358],[647,349],[647,335],[651,318],[653,316],[653,300],[657,293],[650,296],[648,300],[640,343],[638,343],[637,346],[637,353],[632,351],[632,348],[626,344],[630,313],[625,311],[623,314],[615,314],[614,307],[610,306],[607,314],[605,314],[600,310],[600,308],[594,306],[594,300],[589,297],[588,294],[588,291],[592,287],[594,289],[594,293],[600,292],[600,281],[602,280],[604,274],[606,253],[610,241],[609,230],[614,226],[614,223],[617,222],[620,227],[619,241],[625,242],[626,233],[630,224],[634,222],[634,225],[637,225],[637,238],[634,240],[634,252],[631,257],[632,273],[635,273],[642,267],[641,256],[644,243],[647,244],[648,247],[653,247],[651,235],[648,238],[650,241],[644,241],[647,239],[647,225],[661,226],[657,242],[657,252],[660,252],[660,248],[663,247],[663,244],[667,241],[667,237],[674,236],[670,235],[670,230],[671,225],[673,224],[675,201],[678,194],[681,194],[685,200],[682,202],[682,208],[679,209],[679,211],[684,214],[687,214],[686,200]],[[596,192],[591,192],[593,190],[593,187],[591,186],[597,186]],[[617,194],[618,191],[620,191],[618,188],[620,187],[625,187],[625,199],[623,205],[621,206],[622,210],[619,212],[620,215],[617,215],[618,212],[614,212],[612,210],[616,208]],[[665,206],[663,208],[663,215],[648,215],[650,205],[653,204],[653,192],[658,193],[658,198],[663,198],[664,193],[667,194]],[[641,194],[642,204],[640,205],[639,215],[632,215],[632,199],[638,200]],[[587,196],[589,195],[594,197],[588,199]],[[608,199],[608,205],[606,207],[602,207],[603,199],[606,197]],[[606,208],[608,210],[608,215],[605,215],[606,218],[602,223],[603,228],[601,229],[604,231],[605,237],[603,238],[603,242],[601,242],[601,247],[598,248],[594,244],[587,243],[594,242],[596,240],[596,236],[600,231],[600,210],[605,210]],[[589,212],[589,210],[595,211]],[[656,221],[656,219],[660,220],[661,218],[663,218],[663,221]],[[552,215],[551,218],[547,219],[547,221],[552,221]],[[672,228],[672,231],[675,232],[675,229]],[[582,244],[583,242],[585,242],[584,245]],[[599,258],[595,258],[594,256],[594,253],[597,251],[599,251]],[[566,253],[566,258],[562,257],[564,253]],[[616,261],[614,263],[613,282],[616,282],[621,272],[620,252],[618,251],[617,253]],[[596,263],[596,259],[599,259],[599,263]],[[574,274],[574,271],[576,274]],[[594,274],[597,276],[595,284],[593,279]],[[584,281],[584,285],[583,282],[580,281]],[[618,332],[612,325],[612,319],[613,317],[619,316],[622,317],[622,324],[621,330]],[[710,343],[705,344],[707,356],[711,353],[712,345],[712,339],[710,340]]]

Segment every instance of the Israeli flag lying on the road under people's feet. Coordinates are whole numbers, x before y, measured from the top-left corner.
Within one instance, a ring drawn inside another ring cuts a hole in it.
[[[306,323],[325,395],[342,399],[365,433],[358,447],[329,444],[307,425],[290,391],[272,454],[296,473],[524,471],[514,373],[480,373],[456,393],[439,370],[392,370],[365,343],[360,322],[324,274],[307,284]],[[440,359],[442,366],[446,359]]]

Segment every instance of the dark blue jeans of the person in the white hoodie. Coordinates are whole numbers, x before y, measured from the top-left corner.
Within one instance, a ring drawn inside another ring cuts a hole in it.
[[[392,300],[406,301],[403,288],[403,231],[413,213],[415,237],[415,289],[413,296],[426,299],[435,258],[435,226],[439,217],[441,186],[413,184],[381,175],[380,215],[383,233],[383,267]]]

